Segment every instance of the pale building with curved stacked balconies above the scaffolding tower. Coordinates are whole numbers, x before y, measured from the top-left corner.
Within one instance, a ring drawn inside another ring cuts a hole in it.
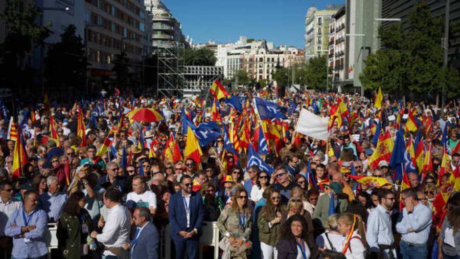
[[[151,42],[153,48],[171,47],[171,41],[185,42],[182,26],[171,11],[157,0],[144,0],[151,19]]]

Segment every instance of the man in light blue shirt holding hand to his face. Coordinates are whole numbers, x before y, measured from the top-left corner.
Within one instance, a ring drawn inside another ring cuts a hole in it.
[[[419,201],[417,192],[412,188],[401,192],[401,201],[406,206],[396,224],[396,231],[401,233],[401,254],[404,259],[426,258],[431,210]]]

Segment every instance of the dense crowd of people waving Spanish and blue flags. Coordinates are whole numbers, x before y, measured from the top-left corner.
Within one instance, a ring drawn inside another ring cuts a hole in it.
[[[160,258],[162,239],[175,258],[212,258],[204,222],[224,259],[460,258],[455,102],[269,90],[204,101],[3,107],[0,258]],[[143,108],[159,116],[136,120]],[[302,110],[329,120],[327,140],[295,131]],[[398,140],[408,161],[385,151]]]

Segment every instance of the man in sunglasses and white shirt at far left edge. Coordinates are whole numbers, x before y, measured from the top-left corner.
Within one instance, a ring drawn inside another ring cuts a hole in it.
[[[13,249],[13,239],[5,235],[5,227],[8,218],[14,211],[21,207],[22,203],[13,198],[13,183],[0,182],[0,258],[8,258]]]

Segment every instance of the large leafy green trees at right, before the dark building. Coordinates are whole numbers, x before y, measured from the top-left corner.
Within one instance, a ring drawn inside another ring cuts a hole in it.
[[[364,88],[382,87],[382,91],[397,97],[415,93],[424,99],[427,94],[441,94],[442,85],[446,84],[447,97],[458,96],[458,72],[443,67],[442,17],[431,17],[428,5],[422,1],[409,12],[408,23],[411,29],[407,33],[400,24],[380,28],[382,49],[366,58],[359,76]],[[457,27],[451,27],[451,32],[456,33]]]

